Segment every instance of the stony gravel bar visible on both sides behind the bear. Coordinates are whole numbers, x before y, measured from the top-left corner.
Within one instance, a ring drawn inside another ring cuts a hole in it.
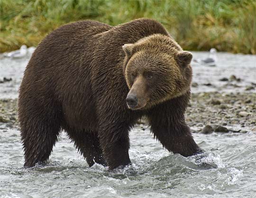
[[[18,128],[17,102],[0,100],[1,128]],[[186,120],[192,132],[256,132],[256,93],[192,94]]]

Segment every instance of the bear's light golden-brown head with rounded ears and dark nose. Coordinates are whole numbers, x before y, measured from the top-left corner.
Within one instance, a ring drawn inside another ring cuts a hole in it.
[[[172,37],[153,34],[122,48],[128,108],[150,109],[190,91],[192,53],[183,51]]]

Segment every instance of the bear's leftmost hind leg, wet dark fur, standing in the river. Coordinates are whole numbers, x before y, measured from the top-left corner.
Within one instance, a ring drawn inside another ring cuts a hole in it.
[[[58,120],[48,115],[34,116],[21,121],[21,139],[23,142],[25,167],[46,163],[51,155],[60,133]]]

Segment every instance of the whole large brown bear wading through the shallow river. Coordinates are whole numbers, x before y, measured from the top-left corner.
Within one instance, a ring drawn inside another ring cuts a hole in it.
[[[151,19],[56,29],[33,53],[19,90],[24,166],[45,163],[61,130],[89,166],[130,164],[128,133],[142,116],[168,151],[196,154],[184,119],[191,59]]]

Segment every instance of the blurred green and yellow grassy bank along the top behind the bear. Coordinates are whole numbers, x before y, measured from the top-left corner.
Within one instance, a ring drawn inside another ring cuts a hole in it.
[[[255,0],[0,0],[0,52],[36,46],[69,22],[139,17],[163,23],[186,50],[256,54]]]

